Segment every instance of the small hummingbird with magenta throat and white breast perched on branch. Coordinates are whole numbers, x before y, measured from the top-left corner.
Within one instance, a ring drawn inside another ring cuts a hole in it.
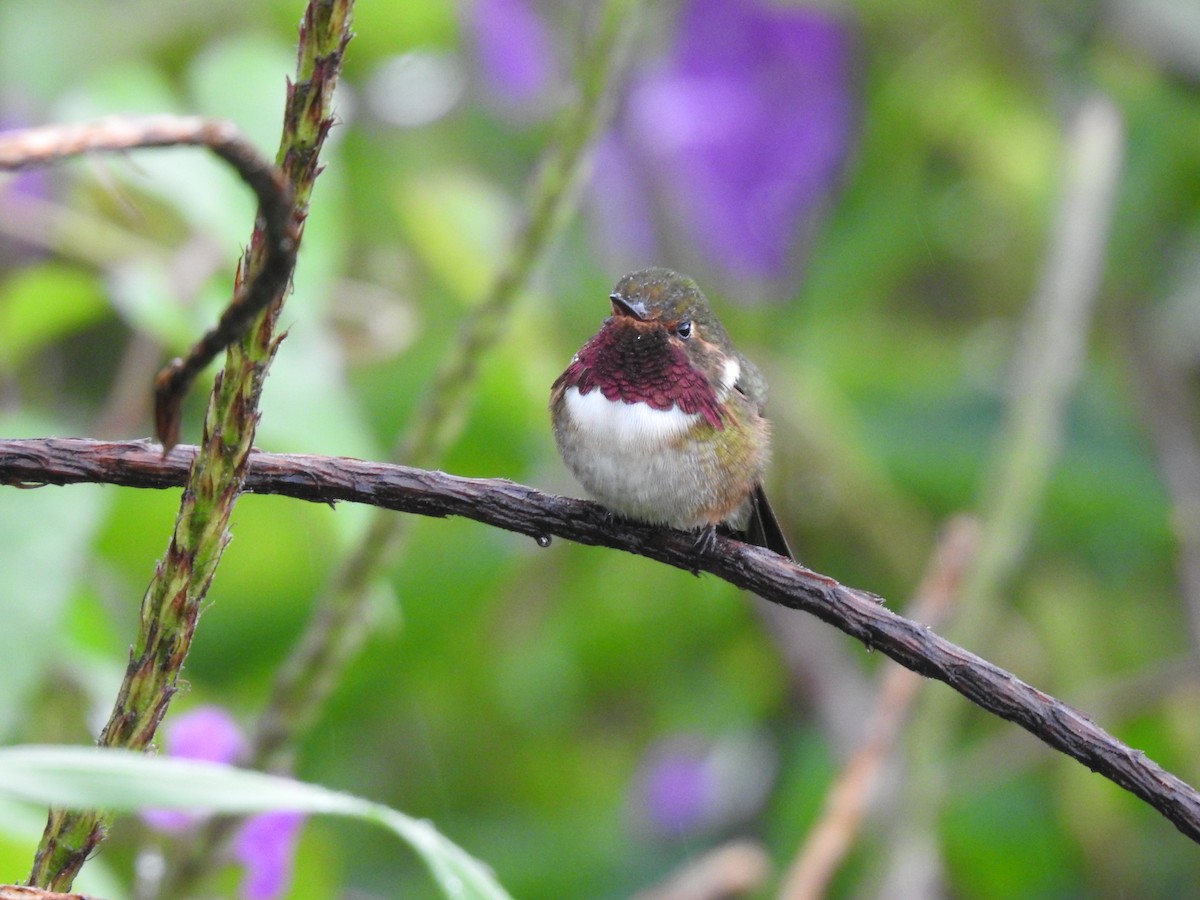
[[[762,490],[762,373],[691,278],[644,269],[608,300],[612,316],[551,388],[566,467],[617,515],[702,541],[720,528],[792,557]]]

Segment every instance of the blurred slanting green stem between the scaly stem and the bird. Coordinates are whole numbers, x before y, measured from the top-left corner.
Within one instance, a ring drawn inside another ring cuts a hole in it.
[[[462,432],[481,359],[503,337],[512,310],[563,224],[577,206],[590,150],[611,118],[614,86],[637,30],[642,0],[608,0],[578,72],[576,102],[559,119],[538,164],[524,221],[508,264],[487,296],[460,329],[458,337],[419,407],[394,462],[436,467]],[[366,632],[371,586],[394,558],[407,520],[376,511],[366,536],[317,600],[308,629],[288,660],[258,722],[253,763],[278,768],[298,736],[312,722]]]

